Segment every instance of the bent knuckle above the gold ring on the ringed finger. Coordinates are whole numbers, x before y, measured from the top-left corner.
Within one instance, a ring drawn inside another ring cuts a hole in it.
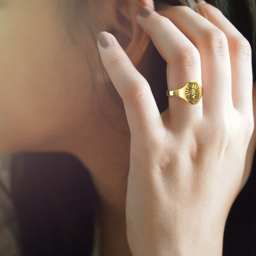
[[[192,70],[201,63],[199,51],[194,46],[180,48],[174,57]]]

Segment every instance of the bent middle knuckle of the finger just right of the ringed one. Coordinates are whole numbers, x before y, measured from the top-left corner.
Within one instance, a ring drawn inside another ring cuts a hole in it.
[[[204,37],[211,51],[221,53],[221,55],[228,53],[228,38],[223,31],[216,28],[210,29],[205,32]]]

